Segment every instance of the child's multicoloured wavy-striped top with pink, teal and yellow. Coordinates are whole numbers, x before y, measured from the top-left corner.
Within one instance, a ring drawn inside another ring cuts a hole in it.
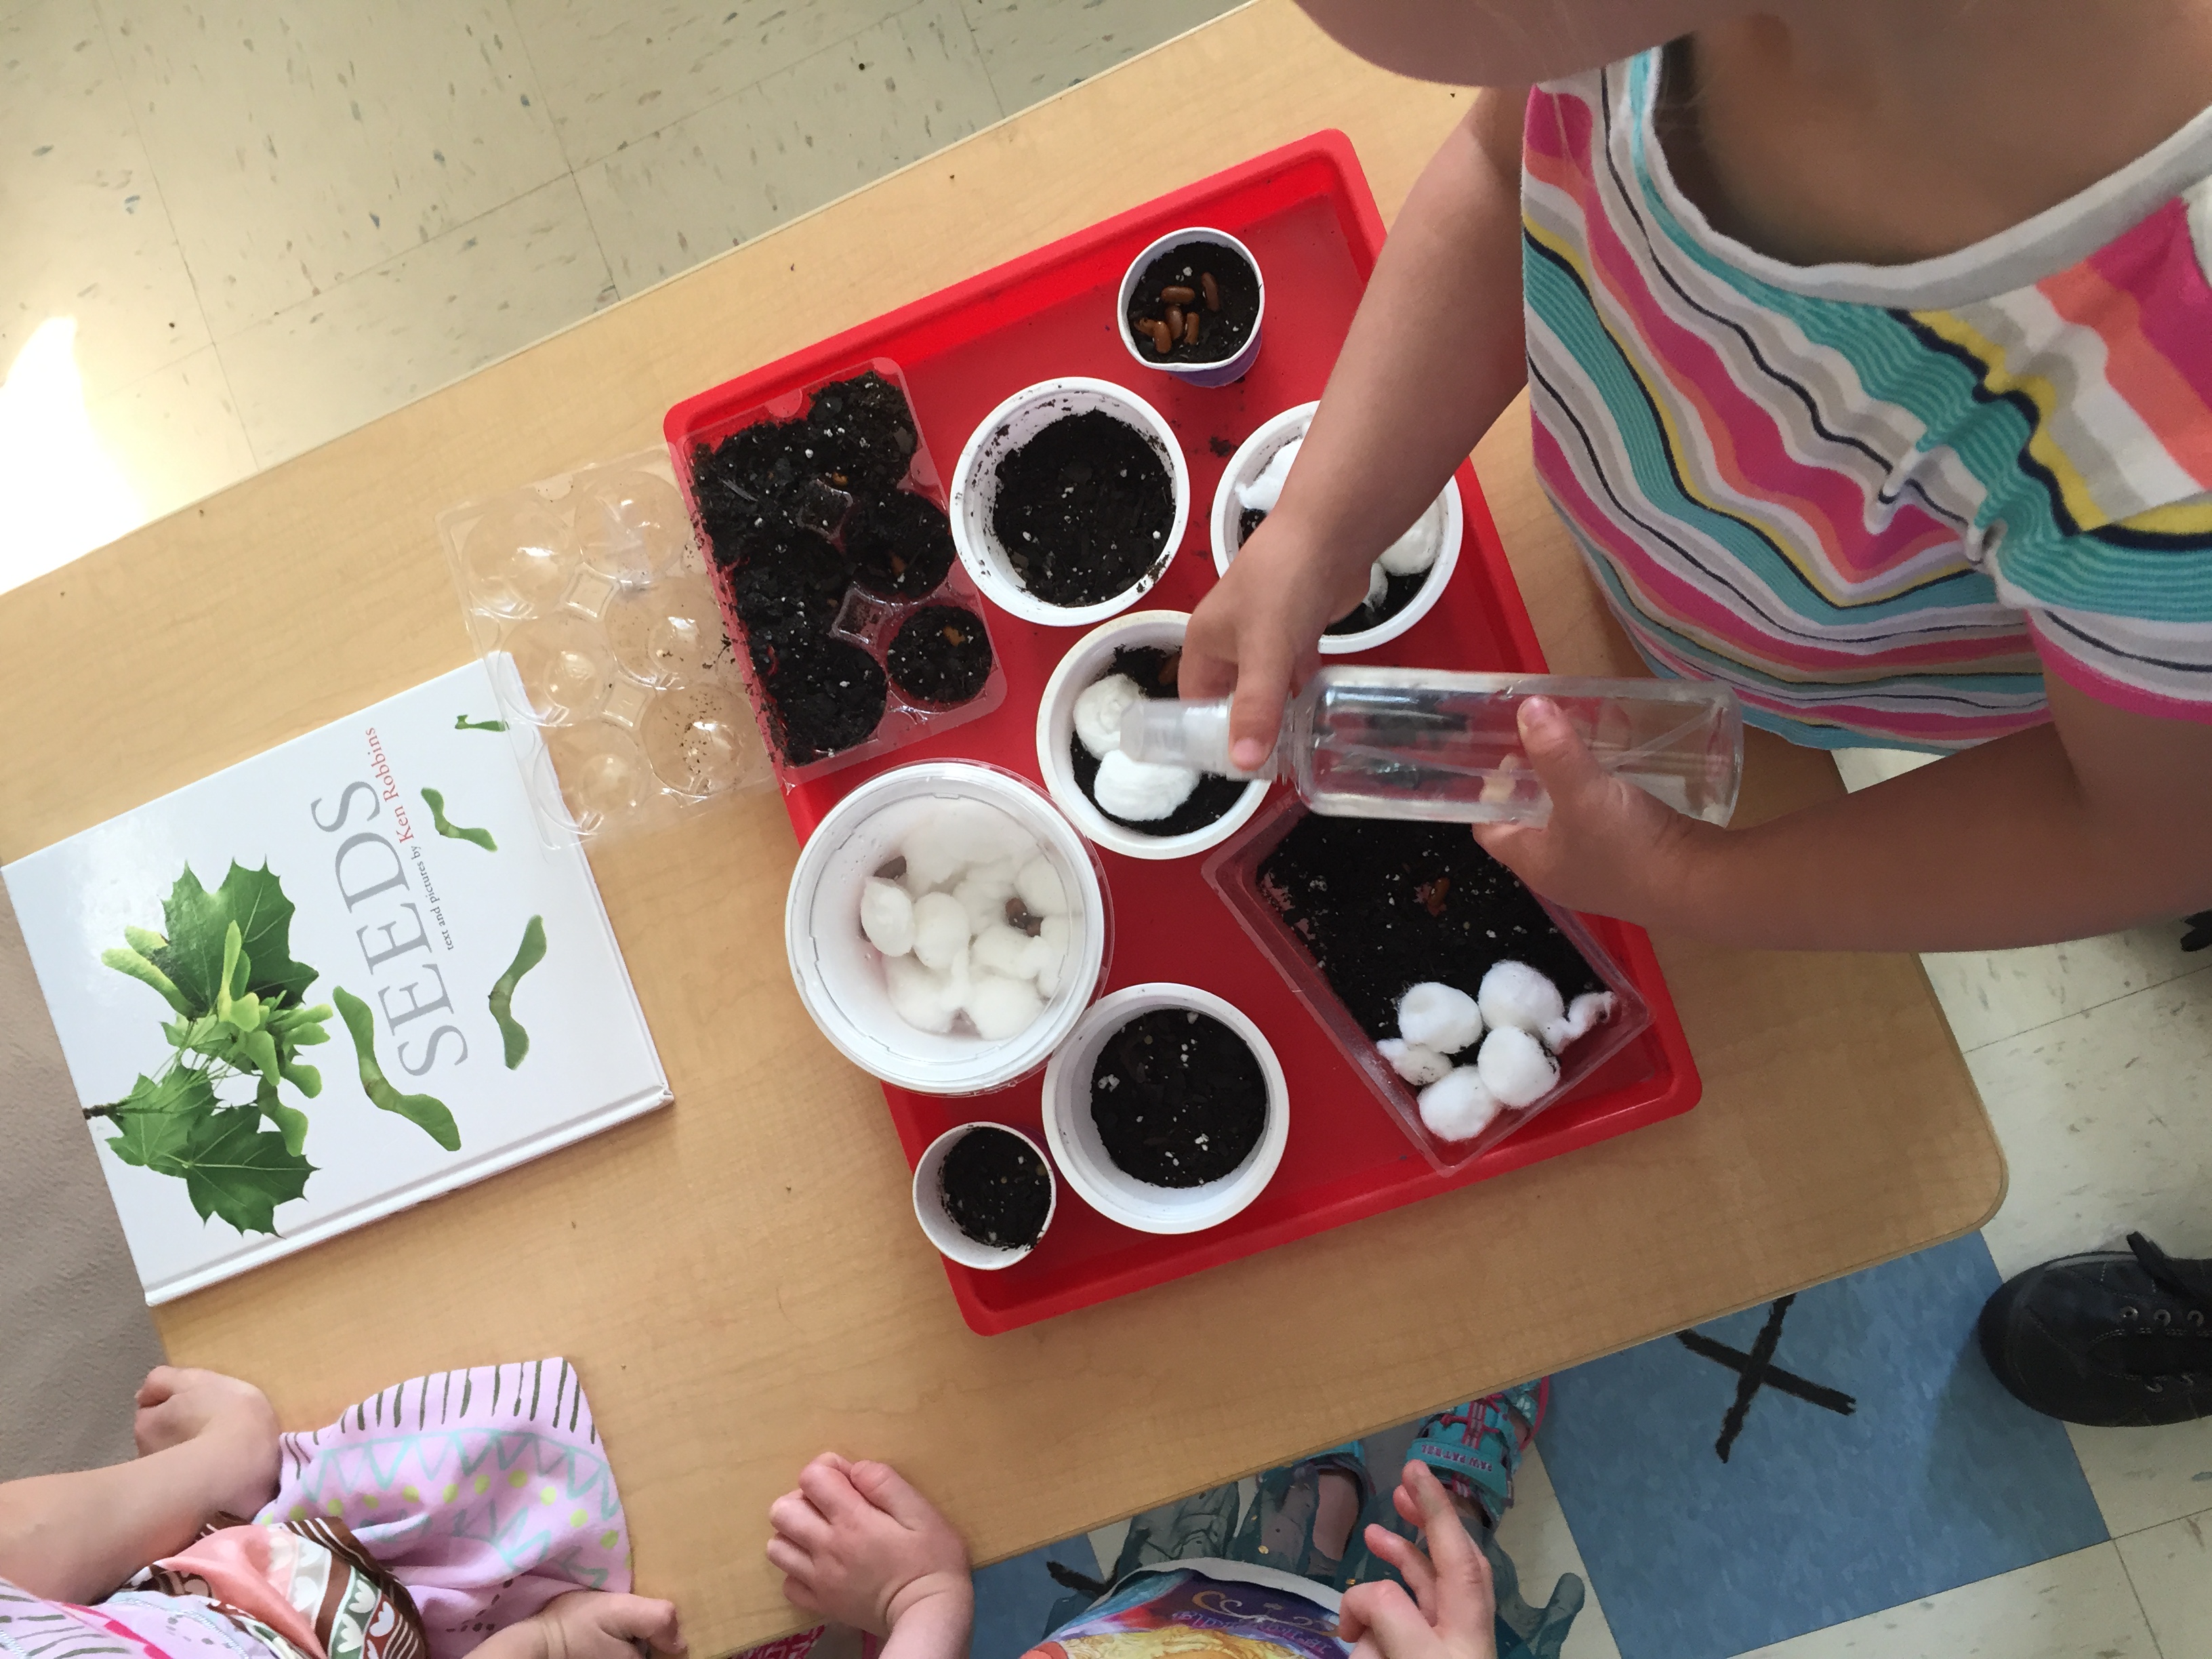
[[[1535,467],[1663,675],[1798,743],[1953,750],[2044,679],[2212,721],[2212,111],[1909,265],[1714,232],[1652,135],[1659,51],[1535,88]]]

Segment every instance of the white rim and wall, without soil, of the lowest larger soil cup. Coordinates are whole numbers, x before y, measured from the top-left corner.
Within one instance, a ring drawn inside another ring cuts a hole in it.
[[[1091,1119],[1091,1071],[1099,1046],[1139,1013],[1188,1009],[1210,1013],[1252,1048],[1267,1079],[1267,1128],[1245,1161],[1206,1186],[1152,1186],[1126,1175]],[[1044,1144],[1066,1183],[1108,1221],[1137,1232],[1203,1232],[1245,1210],[1274,1179],[1290,1144],[1290,1084],[1283,1064],[1241,1009],[1194,984],[1130,984],[1099,998],[1044,1068]]]

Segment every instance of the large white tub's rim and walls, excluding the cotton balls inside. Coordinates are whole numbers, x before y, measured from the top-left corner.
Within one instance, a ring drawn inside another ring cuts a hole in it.
[[[891,1009],[883,953],[860,933],[863,883],[898,856],[914,825],[962,801],[998,814],[1000,823],[984,821],[993,834],[1020,830],[1037,843],[1079,922],[1060,989],[1013,1037],[909,1026]],[[1097,991],[1110,938],[1097,854],[1033,783],[969,761],[900,765],[838,801],[799,849],[783,905],[783,949],[814,1024],[860,1071],[925,1095],[978,1095],[1042,1066]]]

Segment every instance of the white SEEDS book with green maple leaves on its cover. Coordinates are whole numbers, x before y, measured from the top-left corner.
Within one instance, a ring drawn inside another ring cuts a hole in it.
[[[495,670],[0,869],[148,1303],[668,1102]]]

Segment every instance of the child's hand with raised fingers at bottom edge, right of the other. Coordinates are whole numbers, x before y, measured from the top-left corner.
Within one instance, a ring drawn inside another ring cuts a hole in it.
[[[1429,1548],[1367,1528],[1367,1548],[1398,1568],[1413,1597],[1389,1579],[1345,1590],[1336,1635],[1356,1644],[1352,1659],[1498,1659],[1491,1564],[1429,1464],[1409,1462],[1391,1500]]]

